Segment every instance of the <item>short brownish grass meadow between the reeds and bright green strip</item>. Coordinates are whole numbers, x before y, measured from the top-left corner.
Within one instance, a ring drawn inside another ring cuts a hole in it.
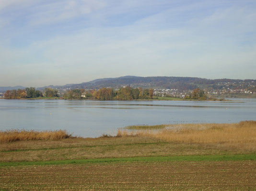
[[[171,143],[146,137],[67,138],[0,144],[0,162],[247,153],[215,145]]]

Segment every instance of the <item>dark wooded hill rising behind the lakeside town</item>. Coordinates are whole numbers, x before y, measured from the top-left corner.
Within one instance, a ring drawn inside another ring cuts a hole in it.
[[[117,78],[102,78],[81,84],[70,84],[63,86],[51,86],[53,88],[70,88],[70,89],[99,89],[103,87],[119,88],[122,86],[142,87],[142,88],[170,88],[179,90],[191,90],[198,86],[211,86],[221,88],[225,83],[229,84],[255,84],[256,80],[239,80],[239,79],[206,79],[198,77],[139,77],[139,76],[122,76]],[[45,87],[43,87],[45,88]]]

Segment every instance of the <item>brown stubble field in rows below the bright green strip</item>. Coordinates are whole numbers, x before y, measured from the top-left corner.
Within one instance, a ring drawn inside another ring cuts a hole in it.
[[[0,190],[256,190],[256,161],[111,162],[0,168]]]

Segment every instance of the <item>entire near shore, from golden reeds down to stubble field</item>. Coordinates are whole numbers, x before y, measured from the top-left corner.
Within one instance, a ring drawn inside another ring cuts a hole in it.
[[[256,122],[2,131],[0,190],[256,190]]]

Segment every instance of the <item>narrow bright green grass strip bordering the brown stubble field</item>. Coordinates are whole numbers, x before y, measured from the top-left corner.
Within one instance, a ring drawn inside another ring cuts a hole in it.
[[[23,161],[23,162],[0,162],[3,166],[19,165],[58,165],[58,164],[85,164],[102,162],[133,162],[133,161],[233,161],[233,160],[256,160],[256,154],[240,155],[186,155],[169,157],[133,157],[133,158],[104,158],[104,159],[73,159],[51,161]]]

